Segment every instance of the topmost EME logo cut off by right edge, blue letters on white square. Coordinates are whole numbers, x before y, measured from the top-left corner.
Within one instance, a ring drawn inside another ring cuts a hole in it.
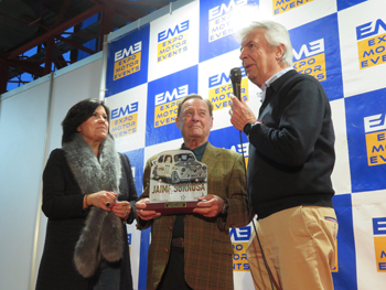
[[[379,30],[383,33],[379,33]],[[386,24],[382,19],[356,28],[360,68],[368,68],[386,62]]]

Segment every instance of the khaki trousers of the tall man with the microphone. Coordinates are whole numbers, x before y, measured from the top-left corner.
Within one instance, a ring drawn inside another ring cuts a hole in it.
[[[321,206],[288,208],[256,222],[256,230],[276,290],[333,290],[337,222],[335,211]],[[253,230],[247,258],[255,288],[271,282]]]

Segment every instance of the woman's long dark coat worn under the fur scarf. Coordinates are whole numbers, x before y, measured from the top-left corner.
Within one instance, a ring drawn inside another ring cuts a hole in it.
[[[137,191],[130,161],[120,154],[120,201],[129,201],[135,216]],[[74,249],[89,210],[83,210],[82,191],[68,167],[64,150],[51,152],[43,173],[42,210],[49,217],[43,256],[39,269],[36,290],[85,290],[93,289],[93,279],[81,276],[74,265]],[[124,258],[120,261],[120,289],[132,289],[127,228],[124,225]]]

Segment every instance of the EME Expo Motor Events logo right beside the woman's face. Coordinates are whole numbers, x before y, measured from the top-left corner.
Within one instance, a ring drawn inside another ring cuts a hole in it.
[[[110,133],[115,139],[137,132],[138,101],[111,110]]]

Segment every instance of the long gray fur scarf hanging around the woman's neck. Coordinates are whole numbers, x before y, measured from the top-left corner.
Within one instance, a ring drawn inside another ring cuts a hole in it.
[[[99,147],[99,161],[81,135],[63,144],[66,159],[82,193],[112,191],[119,193],[120,158],[110,136]],[[100,260],[114,262],[122,258],[122,222],[112,212],[92,207],[75,246],[74,261],[83,277],[92,277]]]

